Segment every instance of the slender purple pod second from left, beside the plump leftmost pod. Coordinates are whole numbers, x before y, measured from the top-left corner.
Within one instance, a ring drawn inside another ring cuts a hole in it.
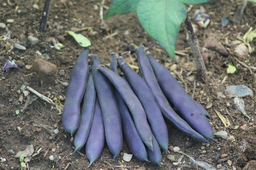
[[[91,72],[89,72],[89,77],[88,77],[88,81],[86,84],[85,93],[83,97],[81,121],[74,136],[74,147],[75,147],[74,153],[79,151],[87,140],[92,118],[93,118],[95,98],[96,98],[96,90],[94,87],[92,74]]]

